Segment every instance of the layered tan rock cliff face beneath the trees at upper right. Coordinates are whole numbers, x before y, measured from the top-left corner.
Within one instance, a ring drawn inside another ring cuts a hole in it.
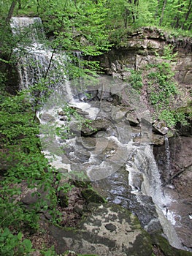
[[[126,80],[130,75],[129,69],[138,70],[147,64],[155,64],[156,53],[161,56],[164,47],[169,44],[178,51],[177,62],[172,62],[177,72],[175,77],[180,83],[191,84],[191,41],[168,36],[158,29],[143,28],[127,34],[117,48],[97,59],[101,61],[101,67],[107,75]]]

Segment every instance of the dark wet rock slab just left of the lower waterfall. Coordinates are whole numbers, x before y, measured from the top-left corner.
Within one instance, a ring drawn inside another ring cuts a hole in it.
[[[141,177],[138,177],[136,182],[139,183],[140,187],[139,185],[138,187],[140,189],[142,184]],[[141,195],[141,204],[137,196],[131,193],[131,186],[128,184],[128,171],[125,167],[121,167],[112,176],[95,182],[93,186],[109,202],[122,206],[135,214],[139,219],[140,225],[147,232],[153,233],[162,229],[152,198]]]

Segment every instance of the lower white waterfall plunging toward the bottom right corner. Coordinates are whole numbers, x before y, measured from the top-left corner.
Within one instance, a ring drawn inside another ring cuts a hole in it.
[[[137,195],[139,201],[142,201],[142,195],[152,197],[153,203],[155,203],[156,211],[158,213],[159,221],[161,222],[161,225],[164,229],[164,233],[169,239],[169,243],[172,244],[172,246],[181,249],[182,245],[180,239],[178,238],[177,233],[172,226],[172,224],[174,224],[174,213],[169,211],[169,220],[167,219],[167,207],[172,203],[172,199],[170,197],[164,196],[161,176],[155,162],[153,150],[149,145],[146,146],[144,150],[141,149],[137,149],[134,162],[131,162],[131,166],[134,166],[134,168],[129,167],[130,162],[128,163],[127,167],[129,177],[131,177],[128,180],[131,187],[133,188],[132,192]],[[135,175],[134,173],[137,173],[137,175],[140,173],[140,175],[142,174],[143,177],[143,182],[139,190],[136,189],[137,183],[135,184],[132,178]]]

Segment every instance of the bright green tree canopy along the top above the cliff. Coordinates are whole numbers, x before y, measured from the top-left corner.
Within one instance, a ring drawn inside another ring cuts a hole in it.
[[[191,0],[4,0],[0,7],[1,15],[7,19],[12,14],[39,15],[49,20],[49,29],[67,27],[70,33],[69,28],[76,28],[93,42],[98,37],[104,39],[104,29],[133,24],[191,31],[191,9]]]

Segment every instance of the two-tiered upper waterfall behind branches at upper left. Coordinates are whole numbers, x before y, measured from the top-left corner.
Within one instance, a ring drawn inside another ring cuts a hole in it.
[[[65,53],[55,53],[45,45],[45,32],[40,18],[13,17],[11,20],[13,34],[20,35],[18,53],[18,73],[20,89],[31,89],[37,84],[58,90],[64,85],[69,99],[72,99],[69,82],[67,82]],[[28,44],[26,44],[26,38]],[[42,43],[44,42],[44,43]],[[21,49],[21,50],[20,50]]]

